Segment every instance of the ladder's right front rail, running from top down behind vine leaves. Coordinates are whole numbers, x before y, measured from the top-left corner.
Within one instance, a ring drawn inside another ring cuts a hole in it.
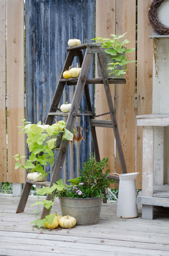
[[[65,127],[70,132],[72,132],[74,123],[76,121],[77,111],[80,106],[80,101],[81,101],[82,93],[84,91],[85,82],[86,82],[87,75],[89,72],[89,67],[90,67],[90,64],[92,61],[92,57],[93,57],[93,54],[87,53],[87,50],[86,50],[85,56],[84,56],[84,61],[82,63],[82,67],[81,67],[80,76],[77,81],[77,86],[76,86],[76,89],[75,89],[75,92],[73,95],[72,105],[71,105],[71,108],[69,111],[69,116],[68,116],[68,119],[66,122],[66,127]],[[50,181],[50,187],[53,185],[53,183],[58,181],[61,176],[62,167],[64,165],[68,145],[69,145],[69,140],[62,140],[61,146],[58,151],[57,160],[54,165],[53,174],[52,174],[51,181]],[[55,192],[56,191],[54,191],[53,196],[55,195]],[[54,199],[54,197],[52,198],[52,200],[53,199]],[[51,195],[47,194],[46,200],[51,200]],[[45,218],[45,216],[48,214],[49,214],[49,209],[46,209],[45,207],[43,207],[41,219]]]

